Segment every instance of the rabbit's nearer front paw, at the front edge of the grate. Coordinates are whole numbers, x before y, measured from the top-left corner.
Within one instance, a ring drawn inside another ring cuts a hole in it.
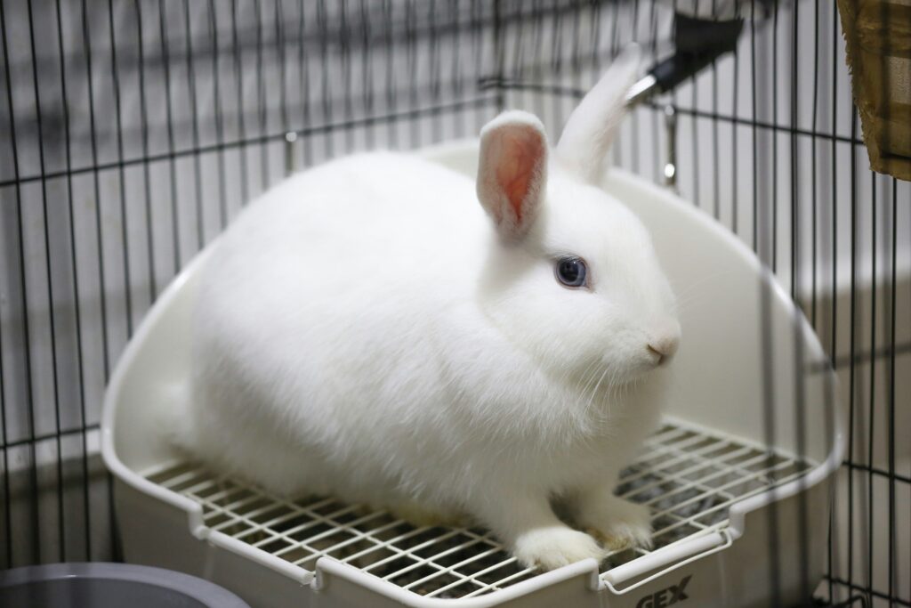
[[[541,570],[554,570],[589,557],[601,561],[602,550],[595,539],[566,527],[539,528],[527,531],[516,540],[519,562]]]

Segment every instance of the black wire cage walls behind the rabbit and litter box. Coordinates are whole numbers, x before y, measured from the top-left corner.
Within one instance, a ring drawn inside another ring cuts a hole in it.
[[[502,108],[559,129],[628,43],[673,48],[678,8],[0,2],[0,568],[119,558],[108,376],[247,201],[353,150],[475,136]],[[868,169],[835,3],[735,10],[732,52],[631,111],[614,160],[662,183],[672,163],[803,307],[848,435],[816,596],[909,606],[911,187]]]

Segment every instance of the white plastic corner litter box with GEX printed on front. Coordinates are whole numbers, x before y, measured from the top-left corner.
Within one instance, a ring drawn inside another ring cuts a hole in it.
[[[476,148],[422,153],[474,177]],[[209,248],[152,307],[108,387],[102,452],[127,561],[200,576],[270,608],[805,600],[824,572],[828,480],[843,450],[827,358],[790,298],[720,224],[620,170],[604,187],[649,227],[681,302],[670,409],[618,488],[650,505],[650,551],[537,573],[484,530],[415,528],[326,497],[280,500],[182,460],[155,410],[188,377],[190,311]]]

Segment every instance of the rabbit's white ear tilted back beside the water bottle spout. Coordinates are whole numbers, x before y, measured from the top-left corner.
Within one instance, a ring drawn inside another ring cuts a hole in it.
[[[561,164],[582,180],[599,184],[610,144],[626,114],[626,96],[639,72],[640,51],[630,46],[582,98],[557,144]]]

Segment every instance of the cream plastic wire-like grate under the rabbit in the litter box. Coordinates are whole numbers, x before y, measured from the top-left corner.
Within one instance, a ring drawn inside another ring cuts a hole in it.
[[[784,483],[814,466],[757,446],[666,423],[620,479],[617,493],[650,506],[654,549],[717,531],[733,502]],[[465,598],[534,576],[487,531],[416,528],[385,511],[338,500],[288,501],[191,463],[147,474],[200,502],[210,529],[312,571],[329,555],[427,597]],[[605,571],[648,553],[617,551]]]

